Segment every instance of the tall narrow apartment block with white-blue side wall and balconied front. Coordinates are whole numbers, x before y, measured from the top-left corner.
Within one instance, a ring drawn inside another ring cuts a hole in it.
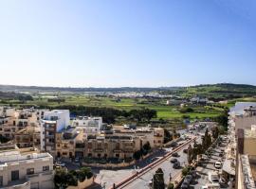
[[[54,110],[44,113],[44,119],[40,121],[40,148],[56,156],[56,137],[69,126],[69,111]]]

